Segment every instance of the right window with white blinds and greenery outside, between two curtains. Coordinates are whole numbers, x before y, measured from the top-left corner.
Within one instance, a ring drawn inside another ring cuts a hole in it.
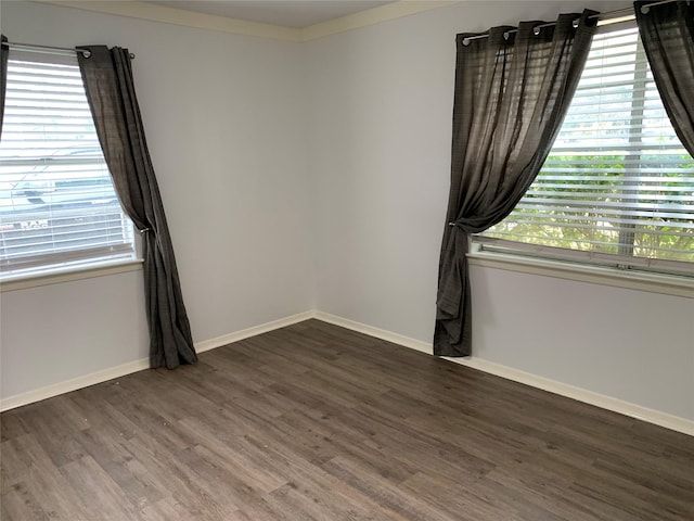
[[[694,160],[635,27],[596,35],[557,139],[483,250],[694,274]]]

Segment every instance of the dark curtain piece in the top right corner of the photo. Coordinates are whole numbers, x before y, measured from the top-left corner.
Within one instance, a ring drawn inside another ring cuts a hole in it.
[[[694,155],[694,3],[634,2],[641,41],[663,104],[680,141]]]

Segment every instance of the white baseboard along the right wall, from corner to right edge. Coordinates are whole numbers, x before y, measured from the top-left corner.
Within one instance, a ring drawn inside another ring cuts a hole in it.
[[[426,354],[432,354],[432,344],[422,342],[420,340],[410,339],[401,334],[393,333],[383,329],[367,326],[364,323],[348,320],[346,318],[337,317],[322,312],[317,312],[314,318],[323,320],[324,322],[340,326],[352,331],[357,331],[370,336],[375,336],[381,340],[393,342],[412,350],[416,350]],[[637,404],[624,402],[621,399],[613,398],[604,394],[588,391],[566,383],[557,382],[549,378],[539,377],[529,372],[520,371],[512,367],[503,366],[493,361],[485,360],[481,358],[467,357],[467,358],[449,358],[444,357],[447,360],[466,366],[473,369],[477,369],[497,377],[505,378],[506,380],[513,380],[514,382],[524,383],[532,387],[541,389],[550,393],[566,396],[568,398],[577,399],[586,404],[594,405],[603,409],[619,412],[631,418],[647,421],[656,425],[665,427],[673,431],[682,432],[694,436],[694,421],[678,416],[661,412],[659,410],[642,407]]]

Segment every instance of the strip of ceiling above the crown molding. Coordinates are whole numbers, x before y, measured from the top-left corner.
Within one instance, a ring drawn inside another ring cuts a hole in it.
[[[166,8],[261,24],[304,28],[394,0],[144,0]]]

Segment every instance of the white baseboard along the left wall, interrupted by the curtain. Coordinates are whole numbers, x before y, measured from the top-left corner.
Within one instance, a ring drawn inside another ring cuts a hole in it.
[[[300,313],[298,315],[293,315],[291,317],[281,318],[271,322],[261,323],[260,326],[255,326],[253,328],[247,328],[242,331],[236,331],[235,333],[229,333],[216,339],[196,342],[195,351],[197,353],[203,353],[205,351],[214,350],[215,347],[221,347],[222,345],[227,345],[232,342],[239,342],[240,340],[247,339],[249,336],[255,336],[257,334],[267,333],[268,331],[284,328],[293,323],[301,322],[309,318],[313,318],[314,316],[314,312]],[[51,398],[60,394],[77,391],[78,389],[88,387],[97,383],[103,383],[108,380],[113,380],[114,378],[125,377],[126,374],[142,371],[149,368],[150,360],[147,358],[142,358],[139,360],[123,364],[120,366],[111,367],[108,369],[103,369],[101,371],[95,371],[89,374],[77,377],[72,380],[66,380],[64,382],[46,385],[44,387],[39,387],[26,393],[15,394],[13,396],[8,396],[7,398],[3,397],[0,398],[0,411],[14,409],[16,407],[33,404],[35,402],[40,402],[42,399]]]

